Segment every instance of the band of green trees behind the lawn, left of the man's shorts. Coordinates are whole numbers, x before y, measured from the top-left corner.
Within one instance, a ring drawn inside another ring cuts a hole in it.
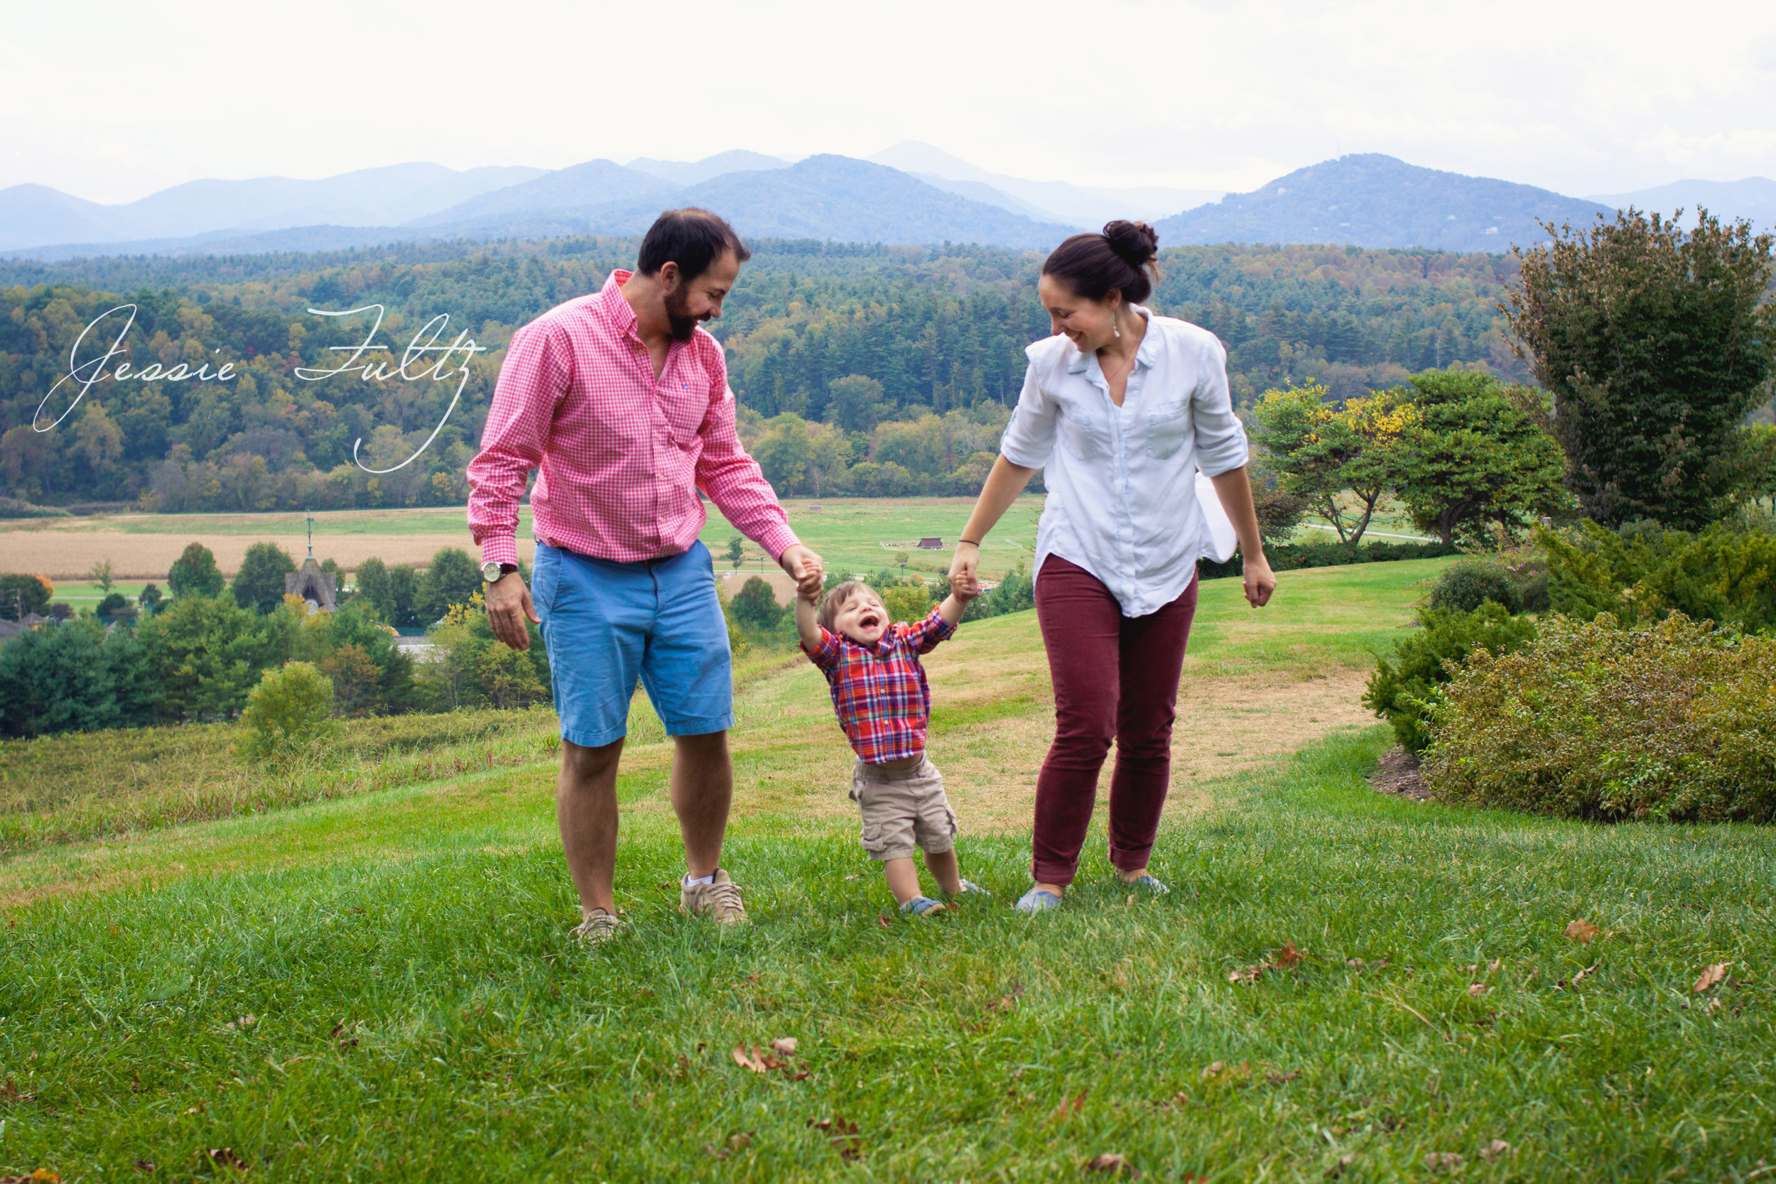
[[[339,715],[549,699],[542,639],[519,651],[494,637],[467,552],[448,547],[424,570],[368,559],[330,612],[284,595],[293,570],[275,543],[254,543],[227,580],[210,549],[192,543],[167,573],[167,595],[149,584],[133,612],[25,630],[0,646],[0,735],[233,719],[286,662],[329,678]],[[27,611],[48,607],[36,600],[48,598],[41,580],[7,579],[36,584],[36,593],[21,584]],[[416,662],[392,625],[428,625],[428,660]]]

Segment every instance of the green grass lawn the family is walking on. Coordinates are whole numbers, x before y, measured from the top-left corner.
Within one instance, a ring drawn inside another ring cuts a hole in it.
[[[1435,568],[1288,573],[1261,614],[1204,584],[1186,682],[1350,671]],[[1062,1180],[1117,1154],[1149,1180],[1769,1175],[1767,829],[1382,797],[1385,731],[1339,730],[1181,786],[1170,896],[1114,884],[1096,833],[1066,909],[1023,918],[1027,806],[993,813],[975,779],[1041,760],[1041,671],[1030,614],[932,655],[932,754],[995,900],[922,923],[886,916],[856,845],[824,683],[764,655],[737,708],[739,932],[673,911],[650,730],[620,783],[632,932],[595,951],[567,934],[540,753],[16,854],[0,1173]],[[1595,941],[1565,935],[1579,918]],[[1298,964],[1252,973],[1286,943]],[[780,1037],[781,1067],[735,1063]]]

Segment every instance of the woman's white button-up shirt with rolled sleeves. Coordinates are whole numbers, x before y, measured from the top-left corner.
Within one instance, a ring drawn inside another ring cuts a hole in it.
[[[1030,367],[1000,440],[1005,460],[1043,469],[1048,486],[1035,572],[1048,556],[1071,559],[1103,580],[1122,616],[1169,605],[1195,577],[1197,557],[1211,554],[1197,469],[1213,478],[1247,462],[1220,341],[1135,311],[1147,334],[1122,407],[1110,401],[1096,353],[1046,337],[1025,350]]]

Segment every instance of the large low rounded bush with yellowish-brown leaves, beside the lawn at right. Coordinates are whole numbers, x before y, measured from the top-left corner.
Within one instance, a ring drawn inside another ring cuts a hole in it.
[[[1447,802],[1577,818],[1776,817],[1776,641],[1673,612],[1550,618],[1444,689],[1424,783]]]

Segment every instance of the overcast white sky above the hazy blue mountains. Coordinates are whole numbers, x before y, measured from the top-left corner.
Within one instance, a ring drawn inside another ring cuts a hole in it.
[[[1776,4],[9,4],[0,188],[927,140],[1250,190],[1339,153],[1613,193],[1776,178]]]

